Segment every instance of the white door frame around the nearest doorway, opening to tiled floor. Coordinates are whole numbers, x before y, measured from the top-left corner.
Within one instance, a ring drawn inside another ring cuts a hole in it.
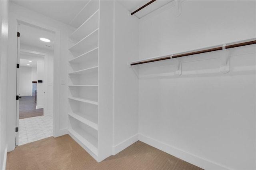
[[[17,25],[28,24],[32,25],[55,34],[54,41],[54,73],[53,73],[53,136],[58,137],[64,134],[67,134],[67,128],[61,129],[60,127],[60,29],[54,28],[52,26],[48,26],[47,24],[43,24],[36,20],[31,20],[26,17],[22,17],[16,15],[14,13],[9,13],[9,42],[8,42],[8,89],[10,92],[7,98],[7,109],[9,110],[9,114],[7,116],[8,124],[6,136],[8,143],[8,152],[14,150],[15,148],[15,124],[16,124],[16,97],[14,94],[16,93],[16,71],[14,72],[13,65],[16,66],[16,54],[17,54]],[[15,67],[16,70],[16,67]],[[14,91],[15,90],[15,91]],[[14,99],[15,98],[15,99]]]

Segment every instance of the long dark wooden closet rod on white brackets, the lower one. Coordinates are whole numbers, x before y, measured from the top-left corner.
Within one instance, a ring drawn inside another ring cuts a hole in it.
[[[248,41],[248,42],[242,42],[242,43],[238,43],[238,44],[232,44],[232,45],[228,45],[226,46],[226,49],[228,48],[234,48],[234,47],[240,47],[240,46],[247,46],[247,45],[251,45],[251,44],[256,44],[256,40],[254,41]],[[133,65],[137,65],[137,64],[144,64],[144,63],[148,63],[148,62],[155,62],[155,61],[160,61],[160,60],[167,60],[167,59],[171,59],[171,58],[178,58],[178,57],[184,57],[184,56],[190,56],[190,55],[194,55],[194,54],[201,54],[201,53],[205,53],[205,52],[212,52],[212,51],[218,51],[218,50],[222,50],[222,46],[221,47],[216,47],[216,48],[210,48],[207,50],[200,50],[200,51],[195,51],[195,52],[188,52],[185,54],[178,54],[178,55],[173,55],[173,56],[168,56],[168,57],[163,57],[163,58],[157,58],[157,59],[153,59],[153,60],[146,60],[146,61],[142,61],[142,62],[135,62],[135,63],[131,63],[131,66]]]

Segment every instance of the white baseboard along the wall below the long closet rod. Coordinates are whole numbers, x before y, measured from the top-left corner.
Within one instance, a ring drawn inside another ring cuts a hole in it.
[[[180,159],[182,159],[186,162],[189,162],[190,164],[193,164],[195,166],[198,166],[200,168],[207,169],[207,170],[231,170],[231,168],[225,167],[220,164],[216,164],[215,162],[206,160],[204,158],[200,158],[194,154],[190,154],[188,152],[185,152],[184,150],[180,150],[173,146],[164,144],[164,143],[157,141],[155,139],[152,139],[148,136],[138,134],[138,137],[141,142],[144,142],[150,146],[153,146],[159,150],[162,150],[172,156],[180,158]]]

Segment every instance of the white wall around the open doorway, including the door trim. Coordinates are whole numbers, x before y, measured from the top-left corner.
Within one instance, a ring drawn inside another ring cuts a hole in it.
[[[54,105],[53,105],[53,117],[54,117],[54,136],[60,136],[63,134],[67,134],[67,86],[66,84],[60,84],[60,80],[66,82],[67,78],[67,40],[68,35],[71,34],[71,28],[66,24],[53,20],[52,18],[48,18],[37,12],[28,10],[22,6],[18,6],[16,4],[10,3],[9,8],[9,32],[12,32],[9,36],[9,58],[8,58],[8,151],[11,151],[15,147],[15,131],[12,129],[15,128],[15,107],[14,104],[15,94],[14,89],[16,86],[16,20],[22,20],[24,22],[28,22],[30,24],[34,24],[48,30],[53,30],[55,32],[55,44],[54,47],[56,50],[54,51],[54,83],[52,84],[54,87]],[[60,43],[61,42],[61,43]],[[60,57],[61,56],[61,57]]]

